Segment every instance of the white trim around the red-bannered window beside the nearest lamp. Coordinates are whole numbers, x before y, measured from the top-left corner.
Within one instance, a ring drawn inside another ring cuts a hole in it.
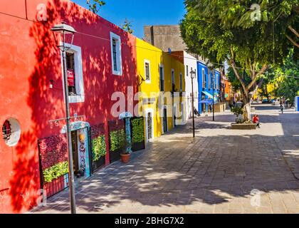
[[[61,46],[62,45],[63,45],[63,42],[61,42]],[[83,103],[85,101],[85,93],[84,93],[84,81],[83,81],[82,51],[81,51],[80,46],[71,45],[70,43],[65,43],[65,47],[70,48],[66,52],[75,54],[75,56],[74,56],[74,58],[75,58],[75,90],[76,90],[76,93],[78,93],[78,95],[69,95],[68,100],[69,100],[69,103]],[[62,52],[61,52],[61,68],[62,68],[62,73],[63,73]],[[64,81],[64,78],[63,78],[63,81]],[[63,90],[64,90],[64,86],[63,86]],[[64,95],[63,95],[63,97],[64,97]]]

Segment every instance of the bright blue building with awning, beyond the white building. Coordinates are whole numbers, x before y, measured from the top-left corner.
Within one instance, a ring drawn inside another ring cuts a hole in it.
[[[208,75],[209,74],[209,75]],[[209,105],[213,103],[213,83],[214,83],[214,103],[219,103],[219,94],[221,88],[220,72],[215,71],[215,80],[213,73],[209,73],[206,63],[197,61],[197,80],[199,83],[199,113],[209,111]]]

